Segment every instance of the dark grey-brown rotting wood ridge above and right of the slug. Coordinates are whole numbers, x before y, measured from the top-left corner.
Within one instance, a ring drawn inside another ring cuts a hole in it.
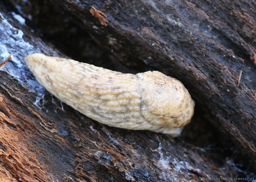
[[[83,1],[83,4],[58,1],[99,45],[111,50],[124,64],[134,67],[144,64],[182,81],[208,113],[207,119],[228,133],[241,152],[255,163],[255,3],[248,0],[154,3],[112,0],[111,3],[104,12],[108,27],[102,27],[88,15],[91,5],[97,9],[104,7],[102,1]],[[241,70],[242,82],[237,87]]]

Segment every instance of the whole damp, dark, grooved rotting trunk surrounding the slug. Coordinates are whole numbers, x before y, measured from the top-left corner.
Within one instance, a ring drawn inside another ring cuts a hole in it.
[[[0,2],[0,59],[13,54],[0,69],[0,181],[253,177],[255,3],[51,3]],[[106,17],[90,12],[92,6]],[[195,116],[178,138],[105,126],[35,81],[23,61],[35,52],[118,71],[161,71],[186,86],[196,102]],[[236,163],[247,170],[241,173]]]

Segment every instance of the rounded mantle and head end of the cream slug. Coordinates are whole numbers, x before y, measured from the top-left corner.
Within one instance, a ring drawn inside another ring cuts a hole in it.
[[[143,117],[156,126],[152,131],[179,135],[194,114],[195,102],[184,85],[159,71],[137,74]]]

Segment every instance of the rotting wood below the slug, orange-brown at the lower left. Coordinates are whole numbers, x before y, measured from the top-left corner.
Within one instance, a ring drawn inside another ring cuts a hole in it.
[[[11,20],[13,17],[6,19]],[[8,28],[8,25],[5,26]],[[40,39],[35,39],[25,30],[26,36],[31,38],[27,41],[34,45],[32,50],[57,55],[52,48],[45,46]],[[147,31],[148,28],[145,27],[143,30]],[[15,32],[14,29],[11,31]],[[2,35],[6,37],[13,36],[7,32],[1,33],[5,33]],[[4,40],[1,38],[1,41]],[[10,44],[9,49],[15,52],[14,50],[20,50],[20,47]],[[32,50],[24,47],[14,56],[18,60],[23,60],[23,57]],[[6,177],[5,180],[15,181],[15,178],[24,178],[22,172],[26,172],[27,168],[33,167],[34,164],[38,164],[38,171],[44,170],[45,174],[32,169],[35,173],[33,176],[26,176],[29,180],[47,181],[47,177],[50,176],[52,181],[61,181],[64,178],[75,181],[198,181],[199,177],[207,176],[239,176],[233,169],[225,171],[230,161],[232,163],[232,159],[223,160],[220,165],[207,149],[190,146],[179,138],[173,139],[145,131],[115,129],[90,119],[85,120],[83,115],[59,103],[56,98],[48,94],[40,96],[37,92],[31,92],[31,86],[24,87],[3,71],[0,71],[0,74],[0,90],[3,97],[1,125],[7,123],[19,138],[18,142],[12,141],[10,138],[13,133],[6,133],[6,128],[0,132],[4,134],[0,137],[0,152],[8,149],[8,152],[4,155],[1,153],[0,157],[3,171],[0,176]],[[36,104],[39,104],[41,109],[33,104],[35,101],[39,101]],[[6,116],[9,116],[9,119]],[[195,138],[194,135],[192,137]],[[10,147],[11,144],[18,150]],[[29,152],[16,158],[17,165],[12,166],[13,163],[8,163],[10,161],[6,156],[11,158],[19,150]],[[20,161],[23,157],[32,163],[22,165]],[[8,166],[2,165],[5,163]]]

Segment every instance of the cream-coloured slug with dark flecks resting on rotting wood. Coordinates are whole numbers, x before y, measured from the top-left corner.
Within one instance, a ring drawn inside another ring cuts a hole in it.
[[[51,94],[105,125],[178,136],[194,114],[184,85],[159,71],[133,75],[40,53],[24,60]]]

